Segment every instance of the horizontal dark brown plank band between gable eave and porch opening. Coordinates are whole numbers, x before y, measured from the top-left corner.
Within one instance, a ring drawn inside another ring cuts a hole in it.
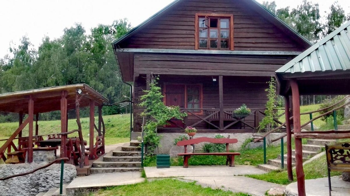
[[[292,56],[135,54],[139,74],[271,76]]]

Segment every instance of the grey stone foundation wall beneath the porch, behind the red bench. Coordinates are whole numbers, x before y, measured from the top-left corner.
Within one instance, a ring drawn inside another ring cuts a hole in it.
[[[180,133],[164,133],[164,134],[158,134],[161,139],[160,139],[160,146],[159,146],[159,153],[167,153],[169,154],[170,149],[172,149],[174,145],[174,139],[177,137],[180,137],[182,135],[186,134],[180,134]],[[194,138],[197,137],[211,137],[214,138],[216,134],[200,134],[197,133]],[[239,150],[241,149],[242,144],[245,142],[246,139],[252,138],[251,133],[230,133],[230,134],[225,134],[222,133],[220,135],[223,135],[224,137],[228,137],[230,135],[230,138],[236,138],[238,140],[237,143],[235,144],[230,144],[230,150]],[[282,133],[272,133],[267,137],[267,144],[269,144],[270,140],[273,140],[274,138],[277,138],[281,136]],[[285,137],[285,142],[286,142],[286,137]],[[195,145],[195,150],[202,150],[202,146],[204,143],[196,144]],[[279,145],[280,141],[276,141],[272,143],[273,145]]]

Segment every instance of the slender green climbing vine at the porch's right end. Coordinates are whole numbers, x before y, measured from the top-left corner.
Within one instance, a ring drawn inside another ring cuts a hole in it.
[[[276,125],[276,121],[274,119],[278,118],[277,114],[277,83],[274,77],[271,77],[271,80],[268,82],[266,109],[265,109],[265,117],[259,123],[259,131],[267,130],[269,131],[272,127]]]

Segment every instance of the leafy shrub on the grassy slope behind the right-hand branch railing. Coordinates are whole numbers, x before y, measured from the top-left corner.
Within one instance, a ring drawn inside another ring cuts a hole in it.
[[[334,98],[328,97],[327,99],[324,99],[322,104],[320,104],[320,109],[329,107],[329,106],[337,103],[338,101],[342,100],[343,98],[344,98],[343,95],[339,95],[339,96],[336,96]],[[340,105],[342,105],[344,103],[345,103],[345,101],[343,101],[342,103],[338,104],[337,106],[333,106],[333,107],[329,108],[328,110],[321,111],[320,114],[324,114],[324,113],[326,113],[328,111],[331,111],[334,108],[336,108],[336,107],[338,107],[338,106],[340,106]],[[330,113],[330,114],[327,114],[327,115],[323,116],[321,118],[321,120],[326,122],[327,118],[329,118],[329,117],[333,118],[333,113]],[[344,108],[340,108],[340,109],[337,110],[337,120],[338,120],[338,118],[341,119],[341,120],[344,119]]]

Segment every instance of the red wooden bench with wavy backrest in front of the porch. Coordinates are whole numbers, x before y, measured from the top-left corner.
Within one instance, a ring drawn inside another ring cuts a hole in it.
[[[213,152],[213,153],[188,153],[187,152],[187,146],[192,144],[198,144],[201,142],[210,142],[210,143],[216,143],[216,144],[226,144],[226,152]],[[209,137],[199,137],[195,139],[190,140],[182,140],[177,142],[176,145],[178,146],[184,146],[185,151],[184,153],[177,154],[177,156],[183,156],[183,167],[188,168],[188,159],[191,158],[191,156],[194,155],[215,155],[215,156],[226,156],[226,165],[229,164],[230,167],[235,167],[235,156],[240,155],[239,152],[230,152],[229,151],[229,144],[237,143],[237,139],[230,139],[230,138],[209,138]]]

